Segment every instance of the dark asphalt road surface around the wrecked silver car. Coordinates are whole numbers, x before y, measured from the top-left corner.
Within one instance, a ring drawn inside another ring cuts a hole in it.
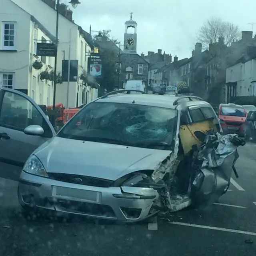
[[[169,220],[117,225],[20,214],[17,182],[0,179],[0,255],[256,255],[256,144],[240,148],[230,191],[214,205]],[[3,176],[3,170],[0,170]],[[255,204],[254,204],[255,203]]]

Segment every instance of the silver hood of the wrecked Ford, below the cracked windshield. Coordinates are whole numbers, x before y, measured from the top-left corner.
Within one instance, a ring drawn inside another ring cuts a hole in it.
[[[116,180],[138,170],[154,170],[171,152],[55,137],[34,154],[48,173]]]

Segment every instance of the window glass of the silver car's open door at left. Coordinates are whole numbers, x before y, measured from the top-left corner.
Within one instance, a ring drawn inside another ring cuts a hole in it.
[[[44,137],[53,136],[45,119],[30,101],[13,92],[4,92],[0,107],[0,126],[24,131],[27,126],[34,124],[44,129]]]

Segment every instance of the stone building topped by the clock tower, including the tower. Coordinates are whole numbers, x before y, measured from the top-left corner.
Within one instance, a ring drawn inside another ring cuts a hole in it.
[[[132,31],[130,31],[132,30]],[[148,86],[149,63],[137,54],[137,22],[125,22],[124,50],[120,53],[120,77],[118,88],[124,88],[127,80],[142,80]]]

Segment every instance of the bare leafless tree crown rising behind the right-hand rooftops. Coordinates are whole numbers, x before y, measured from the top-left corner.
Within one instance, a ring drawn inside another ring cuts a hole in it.
[[[197,40],[202,43],[202,47],[207,49],[210,43],[218,42],[218,39],[224,38],[224,44],[230,46],[233,40],[240,37],[237,25],[225,22],[220,18],[212,17],[200,28]]]

